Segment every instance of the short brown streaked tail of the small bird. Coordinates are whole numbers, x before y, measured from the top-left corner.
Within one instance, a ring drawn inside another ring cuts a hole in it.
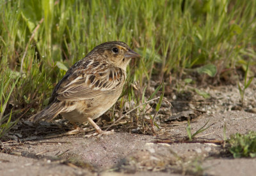
[[[38,112],[37,114],[33,115],[29,118],[29,121],[37,122],[41,119],[49,122],[58,114],[63,112],[64,106],[62,102],[51,103],[49,106],[44,108],[44,110]]]

